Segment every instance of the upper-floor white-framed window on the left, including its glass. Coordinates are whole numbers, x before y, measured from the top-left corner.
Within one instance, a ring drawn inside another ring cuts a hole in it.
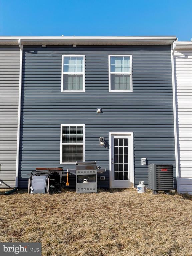
[[[61,92],[85,92],[85,55],[62,55]]]

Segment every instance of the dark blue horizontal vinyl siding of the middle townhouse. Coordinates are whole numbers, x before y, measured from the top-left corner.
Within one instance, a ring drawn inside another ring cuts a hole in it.
[[[61,93],[62,54],[85,55],[85,93]],[[132,93],[109,93],[109,54],[132,54]],[[134,132],[135,185],[148,183],[141,157],[173,164],[175,175],[172,96],[170,46],[24,46],[19,186],[36,167],[75,167],[60,165],[61,124],[85,124],[85,161],[107,171],[109,149],[99,137]],[[109,172],[99,186],[109,186]]]

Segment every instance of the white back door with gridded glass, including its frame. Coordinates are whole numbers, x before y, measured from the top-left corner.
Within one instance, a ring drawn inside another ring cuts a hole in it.
[[[133,187],[133,133],[110,133],[110,187]]]

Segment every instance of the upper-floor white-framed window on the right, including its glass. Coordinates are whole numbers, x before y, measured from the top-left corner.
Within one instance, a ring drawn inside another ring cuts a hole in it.
[[[109,55],[109,92],[132,91],[132,55]]]

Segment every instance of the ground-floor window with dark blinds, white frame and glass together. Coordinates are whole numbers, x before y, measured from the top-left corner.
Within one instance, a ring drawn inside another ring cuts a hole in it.
[[[61,124],[60,164],[75,164],[84,161],[83,124]]]

